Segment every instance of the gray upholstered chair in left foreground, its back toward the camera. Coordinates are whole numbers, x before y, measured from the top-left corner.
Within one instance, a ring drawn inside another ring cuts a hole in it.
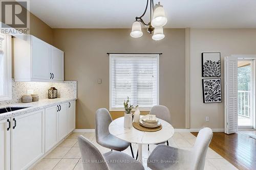
[[[78,136],[78,144],[84,170],[144,169],[141,163],[125,153],[110,151],[102,155],[95,145],[82,135]]]

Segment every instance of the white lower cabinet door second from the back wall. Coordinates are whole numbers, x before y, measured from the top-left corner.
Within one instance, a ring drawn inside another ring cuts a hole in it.
[[[68,134],[68,103],[57,106],[58,116],[58,141],[63,139]]]

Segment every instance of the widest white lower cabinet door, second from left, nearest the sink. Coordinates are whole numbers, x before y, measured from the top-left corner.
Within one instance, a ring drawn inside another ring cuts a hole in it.
[[[11,169],[27,169],[44,155],[44,110],[12,117]]]

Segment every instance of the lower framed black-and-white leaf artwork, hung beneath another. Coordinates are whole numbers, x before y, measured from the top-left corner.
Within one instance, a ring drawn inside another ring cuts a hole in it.
[[[202,79],[204,103],[222,102],[221,79]]]

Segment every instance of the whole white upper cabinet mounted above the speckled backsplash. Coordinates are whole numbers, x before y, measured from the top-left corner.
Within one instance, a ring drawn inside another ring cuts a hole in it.
[[[32,35],[25,39],[13,38],[15,81],[63,81],[64,53]]]

